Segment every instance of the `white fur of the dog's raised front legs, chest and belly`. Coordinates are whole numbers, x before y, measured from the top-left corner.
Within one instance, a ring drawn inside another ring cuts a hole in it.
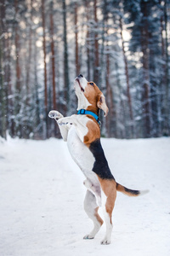
[[[60,117],[59,114],[58,111],[52,110],[49,116],[52,118]],[[57,123],[64,141],[67,142],[71,157],[80,167],[85,177],[88,178],[91,185],[97,189],[96,191],[99,191],[98,197],[100,195],[99,179],[92,172],[94,155],[83,143],[83,137],[88,133],[88,127],[86,126],[88,121],[92,120],[89,120],[85,115],[72,115],[71,117],[59,118]]]

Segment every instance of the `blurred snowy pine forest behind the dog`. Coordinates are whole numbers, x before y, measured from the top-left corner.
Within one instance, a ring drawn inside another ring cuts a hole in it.
[[[170,136],[170,0],[1,0],[0,137],[60,137],[79,73],[105,95],[102,137]]]

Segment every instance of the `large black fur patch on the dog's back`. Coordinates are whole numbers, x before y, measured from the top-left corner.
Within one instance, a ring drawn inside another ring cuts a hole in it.
[[[92,171],[95,172],[100,178],[115,180],[108,166],[100,140],[98,139],[95,140],[94,143],[91,143],[89,149],[92,154],[94,154],[95,159],[94,168]]]

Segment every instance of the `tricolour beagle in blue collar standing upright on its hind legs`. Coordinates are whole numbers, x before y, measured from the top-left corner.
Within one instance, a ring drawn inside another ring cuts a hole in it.
[[[55,119],[64,141],[67,142],[71,157],[87,178],[84,185],[87,193],[84,209],[88,217],[94,222],[94,229],[84,239],[93,239],[104,223],[98,209],[103,206],[106,233],[101,244],[111,243],[112,220],[111,215],[116,201],[116,191],[126,195],[137,196],[147,191],[127,189],[116,183],[105,153],[100,143],[99,109],[105,112],[109,109],[105,103],[105,96],[94,82],[88,82],[82,74],[74,81],[74,89],[78,99],[77,114],[64,117],[58,111],[52,110],[48,116]],[[101,201],[101,195],[105,195]]]

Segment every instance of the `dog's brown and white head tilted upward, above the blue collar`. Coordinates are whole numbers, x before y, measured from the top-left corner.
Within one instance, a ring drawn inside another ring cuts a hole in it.
[[[94,82],[88,82],[80,74],[75,79],[74,88],[78,98],[77,109],[85,108],[89,111],[98,112],[100,108],[105,112],[105,116],[108,114],[109,108],[105,103],[105,96]]]

